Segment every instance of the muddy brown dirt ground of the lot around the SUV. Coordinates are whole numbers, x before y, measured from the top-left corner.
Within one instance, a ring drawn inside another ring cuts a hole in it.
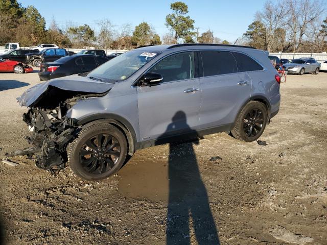
[[[15,98],[36,83],[0,74],[0,159],[27,146]],[[0,163],[6,243],[327,244],[327,73],[289,75],[281,93],[267,145],[219,133],[155,146],[90,183]]]

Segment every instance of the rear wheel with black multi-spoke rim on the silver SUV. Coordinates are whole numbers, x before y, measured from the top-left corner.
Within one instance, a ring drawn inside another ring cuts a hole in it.
[[[250,101],[239,113],[231,135],[246,142],[254,141],[264,132],[267,120],[266,106],[259,101]]]

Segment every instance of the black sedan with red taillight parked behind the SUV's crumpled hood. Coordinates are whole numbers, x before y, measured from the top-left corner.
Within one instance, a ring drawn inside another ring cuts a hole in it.
[[[42,63],[39,71],[40,81],[88,72],[107,62],[107,57],[98,55],[72,55],[55,62]]]

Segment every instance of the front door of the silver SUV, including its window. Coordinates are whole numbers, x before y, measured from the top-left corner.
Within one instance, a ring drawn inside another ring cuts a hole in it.
[[[164,77],[156,86],[138,86],[138,120],[142,141],[184,135],[199,128],[201,89],[194,52],[168,56],[149,72]]]

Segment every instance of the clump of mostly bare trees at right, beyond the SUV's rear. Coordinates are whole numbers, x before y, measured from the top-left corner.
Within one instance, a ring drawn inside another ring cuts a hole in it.
[[[326,51],[327,17],[320,0],[266,1],[244,33],[246,42],[269,52]]]

